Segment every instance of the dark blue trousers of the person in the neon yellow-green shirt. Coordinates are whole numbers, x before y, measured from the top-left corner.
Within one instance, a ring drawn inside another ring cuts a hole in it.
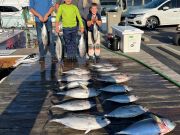
[[[63,28],[63,38],[65,42],[67,58],[74,58],[78,55],[77,33],[77,27]]]

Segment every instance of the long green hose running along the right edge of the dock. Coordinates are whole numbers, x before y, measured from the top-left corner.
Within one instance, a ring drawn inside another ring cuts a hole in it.
[[[137,63],[139,63],[139,64],[141,64],[141,65],[143,65],[145,67],[147,67],[148,69],[152,70],[153,72],[157,73],[158,75],[160,75],[164,79],[168,80],[169,82],[173,83],[174,85],[176,85],[177,87],[180,88],[180,83],[178,83],[177,81],[173,80],[171,77],[165,75],[164,73],[160,72],[159,70],[149,66],[148,64],[146,64],[146,63],[144,63],[144,62],[142,62],[142,61],[140,61],[140,60],[138,60],[136,58],[133,58],[133,57],[127,55],[127,54],[124,54],[124,53],[122,53],[120,51],[118,51],[118,52],[117,51],[112,51],[112,50],[110,50],[110,49],[108,49],[108,48],[106,48],[104,46],[102,46],[102,48],[104,48],[104,49],[106,49],[106,50],[108,50],[108,51],[110,51],[110,52],[112,52],[114,54],[118,54],[118,55],[124,56],[124,57],[126,57],[128,59],[131,59],[131,60],[133,60],[133,61],[135,61],[135,62],[137,62]]]

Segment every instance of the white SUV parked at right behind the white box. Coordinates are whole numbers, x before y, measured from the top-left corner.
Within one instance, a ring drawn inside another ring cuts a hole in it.
[[[180,24],[180,0],[152,0],[139,9],[129,11],[127,21],[130,25],[149,29]]]

